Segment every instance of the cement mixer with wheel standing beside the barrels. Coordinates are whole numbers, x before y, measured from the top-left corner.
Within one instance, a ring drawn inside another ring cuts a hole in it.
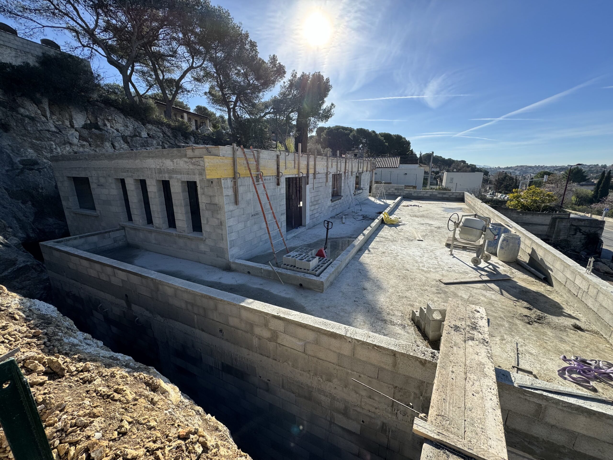
[[[451,223],[453,228],[449,228]],[[482,261],[488,262],[492,255],[485,252],[485,243],[495,238],[495,234],[490,229],[490,223],[492,220],[489,217],[477,214],[463,214],[460,217],[457,212],[454,212],[447,220],[447,230],[452,232],[445,244],[449,246],[449,254],[453,255],[454,248],[475,251],[476,255],[470,259],[474,266],[480,265]]]

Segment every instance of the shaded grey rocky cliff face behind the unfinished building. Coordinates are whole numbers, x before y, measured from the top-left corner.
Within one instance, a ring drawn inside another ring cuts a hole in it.
[[[193,142],[191,136],[143,125],[106,105],[62,107],[46,99],[37,103],[9,98],[0,91],[0,283],[29,297],[44,298],[47,291],[42,266],[20,243],[36,246],[68,234],[49,161],[52,155],[172,148]]]

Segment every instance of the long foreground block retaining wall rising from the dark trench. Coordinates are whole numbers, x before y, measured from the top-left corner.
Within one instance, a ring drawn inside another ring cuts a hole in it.
[[[86,253],[42,244],[56,305],[155,366],[254,458],[417,459],[433,350]]]

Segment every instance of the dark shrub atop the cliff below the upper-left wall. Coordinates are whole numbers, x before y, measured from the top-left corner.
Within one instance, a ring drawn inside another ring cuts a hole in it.
[[[37,64],[0,63],[0,88],[34,102],[45,97],[53,104],[83,105],[96,95],[97,80],[87,61],[66,53],[44,54]]]

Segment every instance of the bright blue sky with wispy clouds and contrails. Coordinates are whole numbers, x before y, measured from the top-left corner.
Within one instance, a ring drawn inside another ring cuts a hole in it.
[[[417,152],[491,166],[613,163],[613,2],[219,4],[262,56],[330,77],[326,125],[398,133]],[[315,11],[331,29],[318,46],[301,22]]]

